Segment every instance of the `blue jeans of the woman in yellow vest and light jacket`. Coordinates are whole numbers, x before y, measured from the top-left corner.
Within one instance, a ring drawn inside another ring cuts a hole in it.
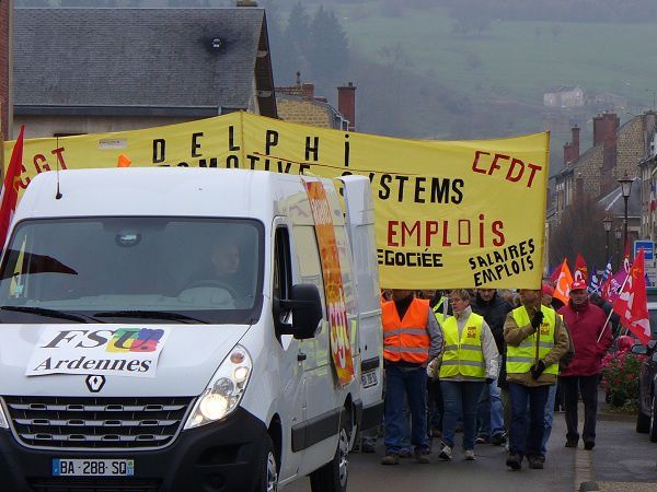
[[[463,449],[474,449],[476,434],[476,403],[485,383],[441,380],[445,414],[442,415],[442,442],[454,447],[457,420],[463,415]]]

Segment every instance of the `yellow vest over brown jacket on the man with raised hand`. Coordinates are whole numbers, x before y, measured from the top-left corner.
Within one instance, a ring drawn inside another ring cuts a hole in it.
[[[556,327],[556,312],[548,306],[541,306],[543,313],[543,321],[539,329],[531,336],[527,337],[518,347],[507,344],[507,373],[522,374],[529,373],[535,363],[537,351],[537,335],[539,342],[539,358],[545,359],[545,355],[554,347],[554,330]],[[529,314],[525,306],[515,308],[511,312],[516,325],[519,327],[527,326],[531,323]],[[543,371],[544,374],[558,374],[558,364],[550,364]]]

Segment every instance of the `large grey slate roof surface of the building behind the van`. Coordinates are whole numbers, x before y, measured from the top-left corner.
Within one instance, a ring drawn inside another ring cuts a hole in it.
[[[263,22],[247,8],[16,9],[14,103],[246,108]]]

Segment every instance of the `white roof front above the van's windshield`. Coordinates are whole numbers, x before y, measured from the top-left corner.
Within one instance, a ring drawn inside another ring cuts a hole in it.
[[[16,210],[25,218],[99,215],[270,219],[280,200],[303,190],[298,175],[218,168],[110,168],[37,175]]]

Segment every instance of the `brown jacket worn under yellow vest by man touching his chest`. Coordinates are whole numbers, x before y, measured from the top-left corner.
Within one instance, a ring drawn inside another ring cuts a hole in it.
[[[533,305],[525,305],[529,319],[531,319],[535,313]],[[545,355],[543,362],[546,366],[552,364],[558,364],[558,361],[568,352],[570,347],[570,340],[568,338],[568,331],[566,330],[561,316],[555,315],[555,327],[554,327],[554,347]],[[512,312],[507,315],[504,324],[504,339],[508,345],[518,347],[522,340],[530,337],[537,330],[531,326],[531,323],[527,326],[518,326],[514,319]],[[537,356],[535,363],[539,358]],[[556,383],[556,376],[554,374],[541,374],[538,379],[531,377],[531,372],[522,374],[509,374],[507,373],[507,382],[518,383],[525,386],[545,386],[554,385]]]

